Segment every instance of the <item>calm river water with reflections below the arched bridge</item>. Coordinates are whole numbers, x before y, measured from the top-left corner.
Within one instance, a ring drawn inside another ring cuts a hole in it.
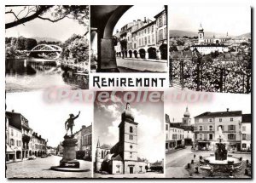
[[[88,76],[67,66],[58,66],[53,60],[12,59],[5,61],[6,92],[33,91],[49,87],[88,89]]]

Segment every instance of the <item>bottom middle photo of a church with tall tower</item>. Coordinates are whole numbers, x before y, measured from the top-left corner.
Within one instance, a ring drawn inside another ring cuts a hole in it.
[[[165,177],[164,104],[125,101],[131,93],[117,91],[94,104],[94,178]]]

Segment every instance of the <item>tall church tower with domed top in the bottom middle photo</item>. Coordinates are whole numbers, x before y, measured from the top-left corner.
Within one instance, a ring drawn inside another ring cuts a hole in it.
[[[119,155],[124,161],[137,161],[137,124],[127,103],[119,124]]]

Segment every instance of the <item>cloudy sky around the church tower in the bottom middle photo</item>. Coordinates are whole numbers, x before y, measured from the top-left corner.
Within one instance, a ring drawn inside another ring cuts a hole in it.
[[[124,93],[125,94],[125,93]],[[94,109],[94,146],[99,138],[101,146],[114,146],[119,140],[119,123],[126,104],[95,102]],[[138,123],[138,157],[147,158],[150,163],[160,161],[165,156],[164,105],[158,103],[131,103],[131,112]],[[95,149],[95,148],[94,148]]]

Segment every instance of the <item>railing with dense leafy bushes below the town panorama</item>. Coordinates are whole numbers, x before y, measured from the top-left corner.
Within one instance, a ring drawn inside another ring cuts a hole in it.
[[[199,60],[170,59],[170,82],[195,91],[248,94],[251,74],[207,66]]]

